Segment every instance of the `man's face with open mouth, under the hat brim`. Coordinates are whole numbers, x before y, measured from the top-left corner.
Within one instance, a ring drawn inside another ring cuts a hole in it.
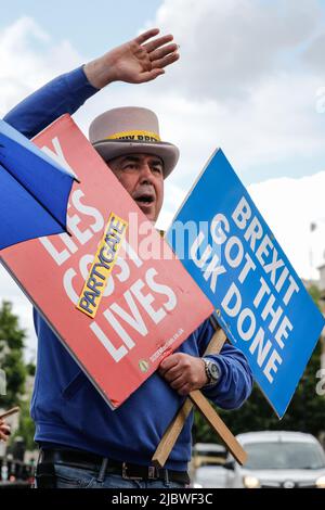
[[[107,162],[147,219],[156,221],[164,200],[164,163],[151,154],[129,154]]]

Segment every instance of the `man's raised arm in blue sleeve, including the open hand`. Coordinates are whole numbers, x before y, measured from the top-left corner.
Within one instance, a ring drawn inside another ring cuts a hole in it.
[[[125,44],[47,84],[6,114],[4,120],[32,138],[65,113],[73,115],[89,98],[113,81],[142,84],[165,73],[179,59],[172,36],[153,28]]]

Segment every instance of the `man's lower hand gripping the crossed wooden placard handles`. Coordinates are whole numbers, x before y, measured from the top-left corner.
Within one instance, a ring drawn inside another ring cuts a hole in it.
[[[171,354],[164,359],[159,373],[182,396],[199,390],[208,382],[204,360],[183,353]]]

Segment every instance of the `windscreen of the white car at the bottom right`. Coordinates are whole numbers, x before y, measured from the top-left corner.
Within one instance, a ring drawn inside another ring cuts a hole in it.
[[[325,454],[313,443],[273,442],[244,445],[248,459],[246,469],[322,469]]]

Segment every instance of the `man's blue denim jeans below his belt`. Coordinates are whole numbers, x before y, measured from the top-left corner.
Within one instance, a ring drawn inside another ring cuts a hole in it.
[[[126,480],[119,474],[106,474],[99,481],[99,473],[86,469],[55,463],[56,488],[184,488],[185,485],[165,480]],[[37,483],[36,483],[37,487]]]

